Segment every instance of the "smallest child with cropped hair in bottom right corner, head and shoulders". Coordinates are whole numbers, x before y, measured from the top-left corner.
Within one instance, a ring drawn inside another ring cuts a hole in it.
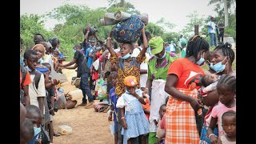
[[[222,127],[225,135],[218,138],[218,144],[235,144],[236,143],[236,125],[237,125],[236,112],[233,110],[227,111],[222,114]]]

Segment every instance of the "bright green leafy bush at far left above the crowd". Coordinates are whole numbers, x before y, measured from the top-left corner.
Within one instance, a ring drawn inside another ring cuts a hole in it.
[[[34,46],[34,34],[42,34],[45,39],[54,34],[45,30],[43,26],[42,17],[38,16],[38,14],[22,14],[20,16],[20,35],[23,39],[23,51]]]

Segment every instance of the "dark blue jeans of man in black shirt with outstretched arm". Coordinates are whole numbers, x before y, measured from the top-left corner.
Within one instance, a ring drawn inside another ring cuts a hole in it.
[[[82,103],[86,103],[86,95],[88,97],[88,101],[89,102],[93,102],[94,101],[94,97],[91,95],[90,92],[90,86],[88,85],[88,78],[90,77],[90,73],[83,73],[81,75],[81,81],[80,81],[80,86],[79,89],[82,90]]]

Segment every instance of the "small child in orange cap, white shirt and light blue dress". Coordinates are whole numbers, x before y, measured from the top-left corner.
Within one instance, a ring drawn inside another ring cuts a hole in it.
[[[126,86],[126,92],[118,98],[117,102],[117,107],[121,110],[123,143],[140,143],[139,136],[142,136],[142,143],[144,143],[146,139],[143,135],[150,132],[150,123],[142,109],[142,104],[146,102],[142,98],[142,91],[137,88],[137,78],[127,76],[123,83]]]

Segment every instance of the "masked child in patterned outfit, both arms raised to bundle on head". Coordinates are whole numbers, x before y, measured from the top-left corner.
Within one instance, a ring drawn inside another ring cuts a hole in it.
[[[109,38],[107,38],[107,49],[110,51],[110,61],[112,65],[114,65],[115,69],[118,71],[117,77],[117,86],[115,89],[115,93],[120,97],[125,93],[125,86],[123,83],[123,79],[128,75],[133,75],[137,78],[137,81],[140,82],[140,68],[141,63],[146,59],[146,49],[148,47],[148,42],[146,39],[145,30],[142,29],[143,43],[144,47],[142,48],[140,54],[136,58],[131,57],[132,51],[134,50],[134,46],[132,43],[122,43],[122,48],[120,50],[121,57],[118,58],[118,55],[111,48],[111,31],[109,34]],[[138,83],[140,86],[140,83]]]

